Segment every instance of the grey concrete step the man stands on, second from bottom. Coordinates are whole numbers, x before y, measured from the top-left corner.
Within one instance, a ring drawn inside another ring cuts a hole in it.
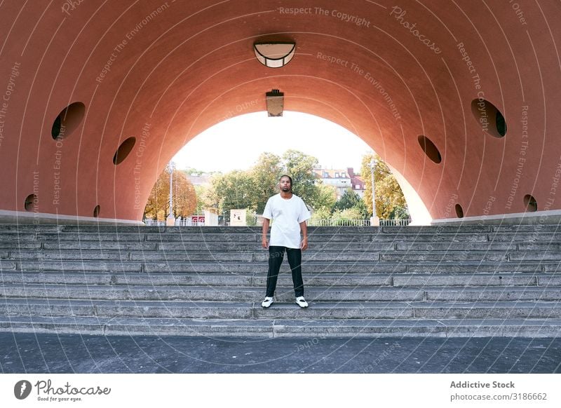
[[[260,300],[259,300],[260,301]],[[4,299],[0,315],[89,316],[217,319],[482,319],[561,318],[558,301],[314,301],[306,309],[276,303],[228,301],[106,301],[74,299]]]

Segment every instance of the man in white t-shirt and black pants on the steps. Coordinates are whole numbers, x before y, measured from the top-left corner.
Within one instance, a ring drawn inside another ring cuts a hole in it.
[[[306,308],[308,303],[304,299],[301,264],[302,251],[308,248],[306,219],[310,218],[310,212],[302,198],[292,193],[292,178],[290,176],[280,176],[278,187],[280,193],[267,200],[263,212],[262,246],[269,248],[269,272],[267,273],[266,295],[261,306],[268,308],[274,301],[278,271],[286,252],[288,264],[292,271],[296,303],[301,308]],[[269,242],[267,241],[267,232],[271,219],[273,219],[273,226],[271,227],[271,240]],[[301,232],[302,240],[300,239]]]

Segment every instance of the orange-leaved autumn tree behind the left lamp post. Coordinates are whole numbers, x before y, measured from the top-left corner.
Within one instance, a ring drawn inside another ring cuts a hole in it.
[[[173,216],[189,217],[197,206],[197,197],[193,184],[181,170],[173,170]],[[168,168],[158,176],[150,191],[144,218],[164,220],[170,210],[170,173]]]

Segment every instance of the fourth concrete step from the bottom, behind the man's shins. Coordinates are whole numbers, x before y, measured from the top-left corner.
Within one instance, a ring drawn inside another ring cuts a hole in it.
[[[308,286],[393,286],[393,287],[548,287],[561,286],[561,273],[473,273],[423,275],[407,273],[304,273]],[[266,271],[256,273],[117,273],[4,271],[1,285],[192,285],[266,286]],[[279,287],[290,287],[289,271],[278,277]]]

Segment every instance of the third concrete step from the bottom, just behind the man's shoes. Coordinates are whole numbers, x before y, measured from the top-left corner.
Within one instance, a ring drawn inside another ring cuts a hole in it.
[[[264,287],[196,285],[48,285],[0,287],[0,297],[95,300],[261,301]],[[292,287],[277,287],[292,301]],[[306,287],[309,301],[560,301],[561,287]]]

